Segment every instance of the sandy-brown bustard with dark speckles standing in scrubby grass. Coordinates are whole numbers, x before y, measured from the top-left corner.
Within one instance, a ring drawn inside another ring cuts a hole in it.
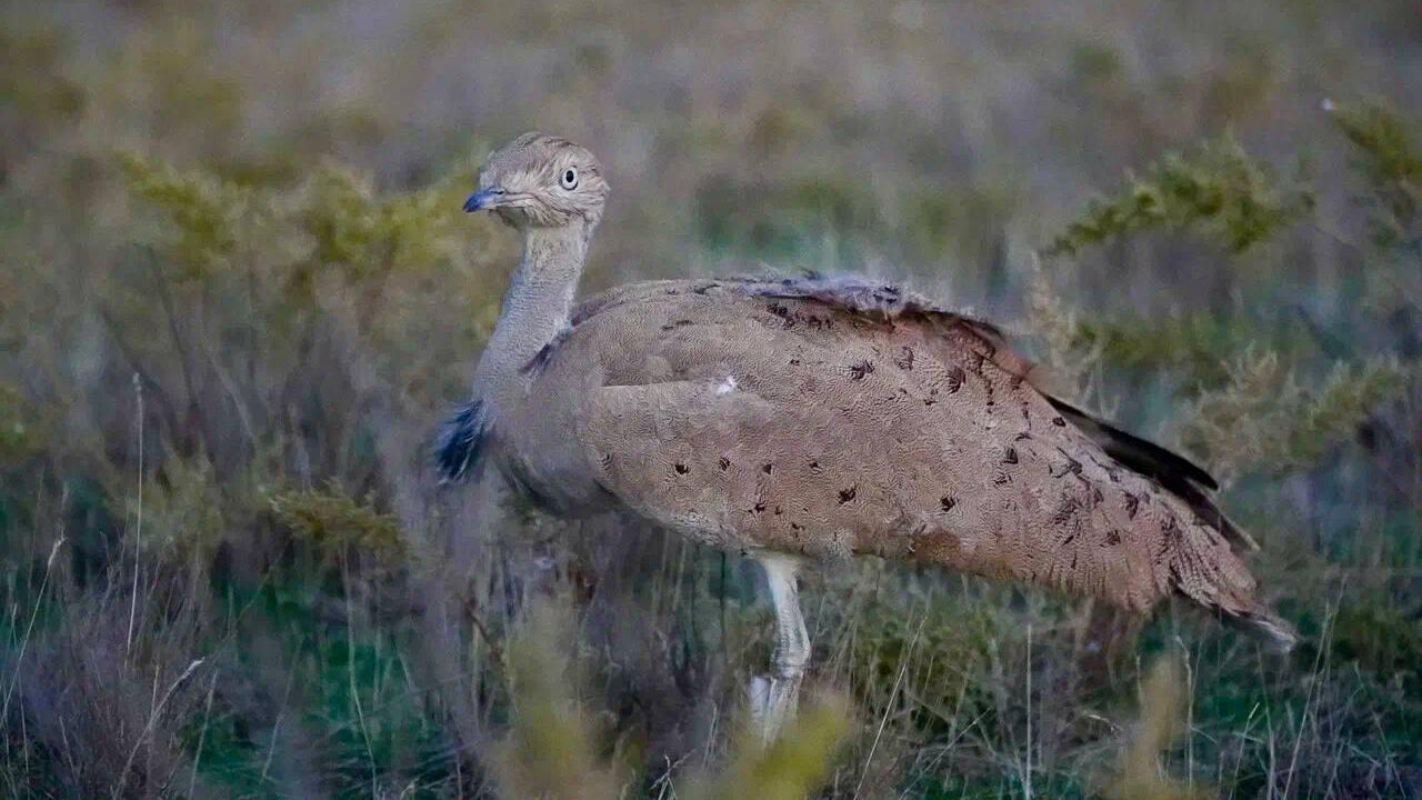
[[[943,564],[1145,612],[1169,595],[1277,649],[1254,542],[1185,458],[1057,400],[991,325],[853,279],[653,280],[574,305],[609,185],[567,140],[493,152],[464,209],[523,235],[474,399],[437,443],[559,515],[630,510],[765,568],[772,735],[811,655],[805,561]]]

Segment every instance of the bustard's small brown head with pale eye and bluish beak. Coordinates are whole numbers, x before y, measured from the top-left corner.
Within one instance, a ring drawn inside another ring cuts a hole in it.
[[[560,228],[603,216],[607,181],[586,148],[528,132],[493,151],[479,171],[479,188],[464,209],[492,211],[513,228]]]

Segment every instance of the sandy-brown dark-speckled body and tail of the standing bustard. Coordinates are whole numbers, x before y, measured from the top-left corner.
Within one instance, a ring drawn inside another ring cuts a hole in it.
[[[1039,391],[983,322],[820,279],[634,283],[573,322],[513,426],[545,491],[722,547],[1267,616],[1207,475]]]

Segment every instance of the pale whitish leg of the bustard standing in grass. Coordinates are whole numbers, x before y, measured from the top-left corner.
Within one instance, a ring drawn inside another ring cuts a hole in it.
[[[795,715],[801,676],[805,675],[811,648],[795,579],[799,561],[782,554],[761,554],[757,561],[765,571],[771,602],[775,605],[775,652],[771,655],[771,676],[751,679],[751,709],[761,736],[771,742],[779,735],[785,720]]]

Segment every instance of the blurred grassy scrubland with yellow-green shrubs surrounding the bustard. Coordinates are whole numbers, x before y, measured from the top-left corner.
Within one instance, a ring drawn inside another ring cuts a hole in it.
[[[1422,796],[1416,3],[0,20],[7,794]],[[432,483],[518,246],[459,204],[535,128],[613,185],[584,292],[856,272],[1001,320],[1224,478],[1304,645],[863,561],[806,575],[828,699],[758,753],[754,569]]]

